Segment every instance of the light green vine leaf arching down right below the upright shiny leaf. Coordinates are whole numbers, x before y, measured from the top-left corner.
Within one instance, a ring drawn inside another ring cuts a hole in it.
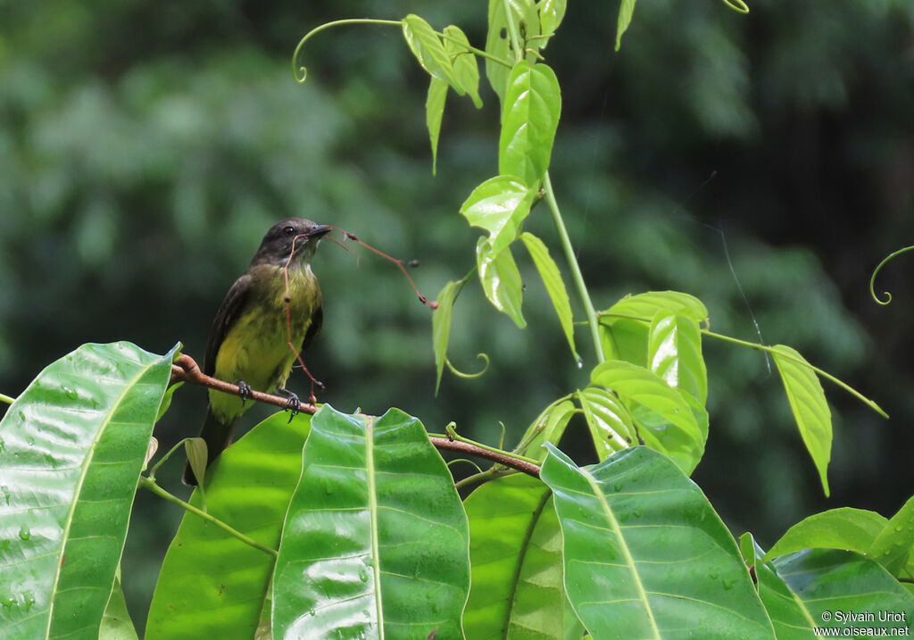
[[[705,451],[707,412],[691,396],[670,387],[654,372],[622,360],[594,368],[590,381],[615,391],[639,426],[644,443],[668,454],[691,473]]]

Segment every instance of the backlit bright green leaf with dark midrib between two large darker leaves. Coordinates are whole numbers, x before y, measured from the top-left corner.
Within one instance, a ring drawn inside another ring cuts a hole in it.
[[[468,638],[577,640],[582,635],[565,595],[561,531],[551,495],[537,478],[509,475],[466,498],[473,565],[463,614]]]

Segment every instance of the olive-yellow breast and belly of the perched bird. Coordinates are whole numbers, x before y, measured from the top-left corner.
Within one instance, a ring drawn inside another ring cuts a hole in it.
[[[290,270],[292,300],[287,307],[281,268],[262,265],[250,275],[249,299],[218,348],[215,375],[228,382],[244,380],[251,389],[274,393],[289,378],[295,361],[289,343],[295,349],[302,347],[321,306],[321,289],[310,267]],[[238,417],[251,405],[242,406],[239,398],[212,389],[209,403],[222,418]]]

